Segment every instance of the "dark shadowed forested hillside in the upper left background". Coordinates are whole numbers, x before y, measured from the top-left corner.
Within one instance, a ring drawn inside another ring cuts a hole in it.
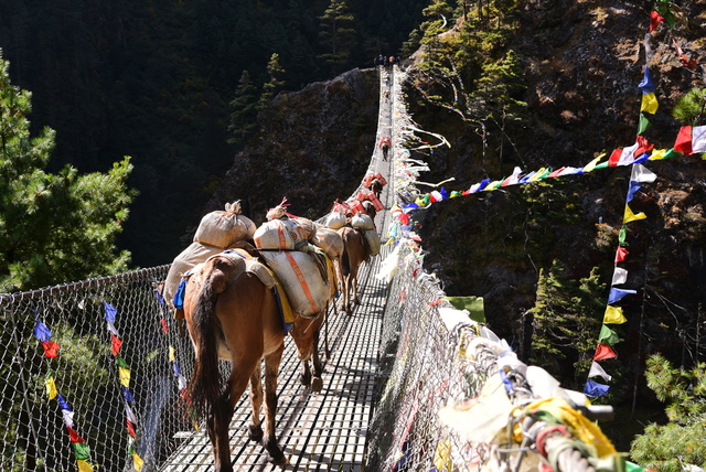
[[[426,1],[349,0],[327,13],[338,3],[3,0],[0,47],[13,84],[33,94],[34,131],[56,130],[49,171],[106,171],[132,158],[139,196],[120,245],[149,267],[183,248],[242,149],[228,128],[244,72],[257,100],[272,54],[284,72],[270,96],[372,67],[399,50]]]

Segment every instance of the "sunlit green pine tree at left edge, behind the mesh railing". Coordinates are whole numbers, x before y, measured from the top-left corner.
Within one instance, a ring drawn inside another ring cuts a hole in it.
[[[31,108],[0,51],[0,292],[126,270],[130,254],[115,240],[135,196],[129,158],[106,174],[45,172],[55,132],[31,137]]]

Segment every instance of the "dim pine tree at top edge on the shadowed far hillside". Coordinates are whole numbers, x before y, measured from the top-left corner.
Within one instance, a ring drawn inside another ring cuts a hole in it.
[[[333,72],[338,74],[339,66],[344,65],[351,55],[355,44],[355,30],[351,28],[354,17],[349,12],[349,6],[344,0],[331,0],[321,20],[319,37],[328,50],[319,57],[323,58]]]

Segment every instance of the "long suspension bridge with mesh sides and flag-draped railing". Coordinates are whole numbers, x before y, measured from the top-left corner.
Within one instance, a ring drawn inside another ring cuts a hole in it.
[[[376,142],[394,137],[391,159],[375,147],[368,168],[389,182],[381,197],[387,211],[375,222],[381,233],[393,224],[400,185],[414,179],[398,147],[409,129],[398,99],[403,76],[381,67]],[[277,436],[288,464],[271,464],[247,439],[246,393],[231,426],[235,470],[531,470],[539,463],[592,470],[591,458],[613,458],[599,429],[580,411],[565,411],[574,405],[589,415],[585,397],[524,365],[490,330],[454,310],[421,259],[418,245],[399,237],[364,265],[353,314],[330,308],[332,356],[323,363],[321,391],[299,383],[300,363],[287,340]],[[8,347],[0,353],[0,420],[8,425],[0,431],[0,470],[213,470],[207,435],[179,394],[193,353],[159,296],[168,270],[1,296],[0,317],[10,329],[0,332]],[[60,355],[52,355],[52,343]],[[563,403],[537,404],[547,398]],[[582,432],[559,428],[567,418]]]

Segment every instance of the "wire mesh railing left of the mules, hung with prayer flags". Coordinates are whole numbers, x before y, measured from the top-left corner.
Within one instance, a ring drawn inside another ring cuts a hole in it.
[[[157,291],[168,269],[1,296],[0,470],[156,470],[192,429],[175,375],[191,344]]]

